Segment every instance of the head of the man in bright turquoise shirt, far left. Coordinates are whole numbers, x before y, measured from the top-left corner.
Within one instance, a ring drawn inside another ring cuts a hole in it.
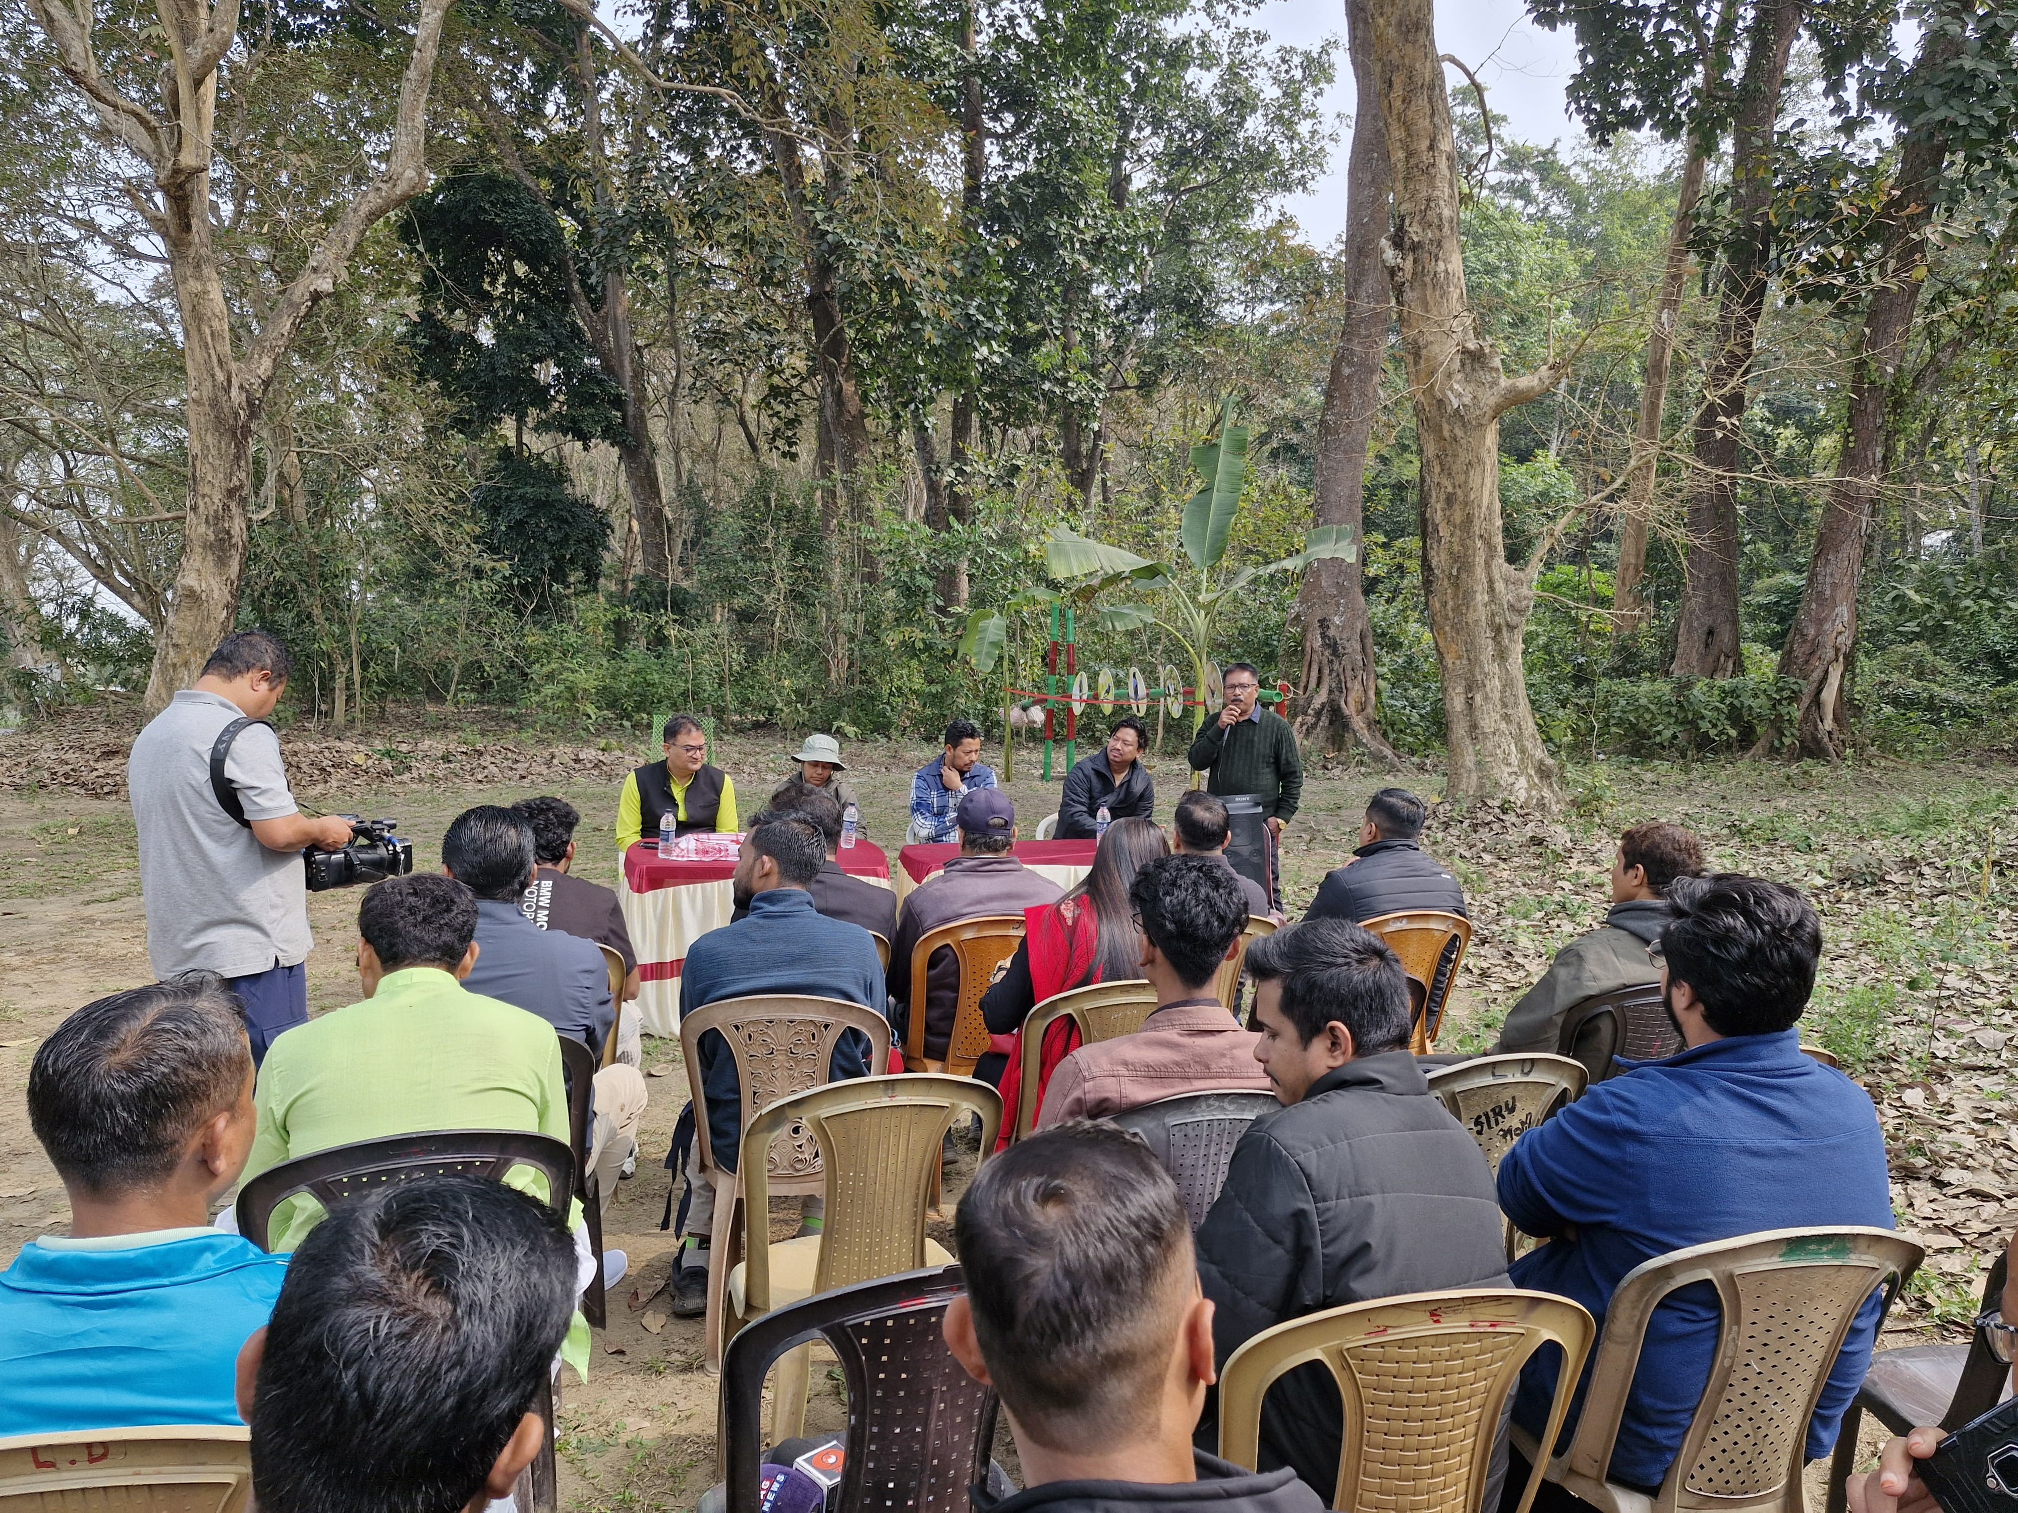
[[[196,1130],[252,1075],[244,1013],[224,980],[188,972],[87,1003],[28,1067],[28,1124],[67,1186],[93,1196],[165,1182]]]

